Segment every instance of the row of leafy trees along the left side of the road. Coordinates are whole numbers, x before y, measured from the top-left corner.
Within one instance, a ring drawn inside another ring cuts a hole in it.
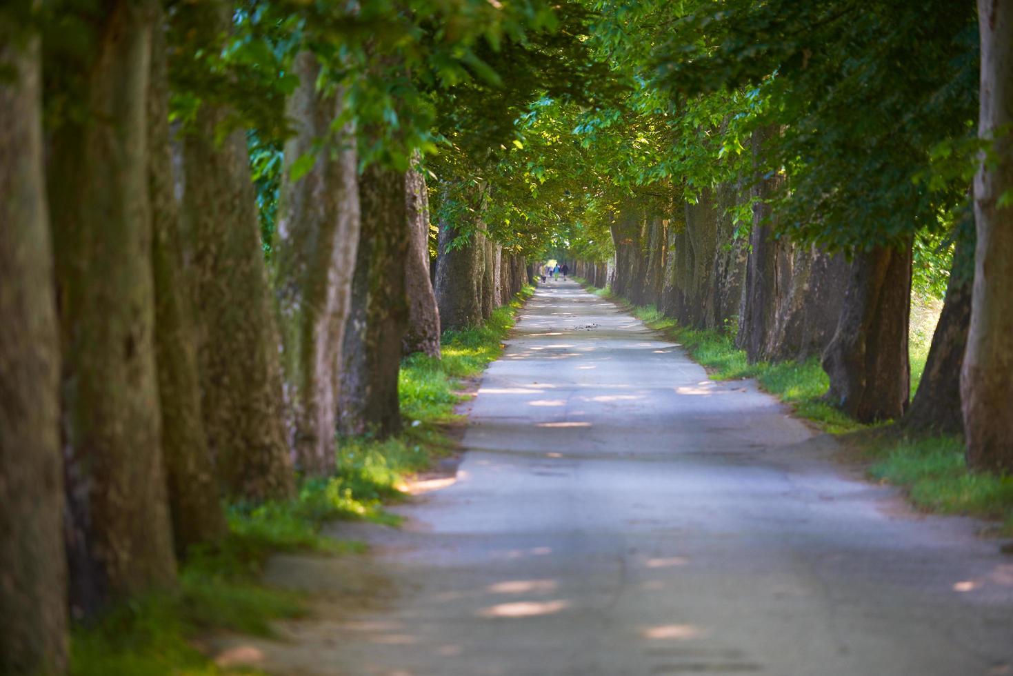
[[[223,502],[399,431],[402,355],[527,283],[537,236],[481,219],[501,111],[593,66],[585,11],[540,2],[23,4],[0,10],[0,671],[34,674],[66,668],[68,617],[170,589]]]

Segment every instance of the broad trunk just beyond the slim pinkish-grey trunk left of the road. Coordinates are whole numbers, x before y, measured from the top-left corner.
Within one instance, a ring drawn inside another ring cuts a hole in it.
[[[444,328],[464,328],[482,318],[478,294],[481,268],[477,237],[472,234],[463,246],[451,248],[451,242],[459,235],[454,225],[441,221],[436,295]]]

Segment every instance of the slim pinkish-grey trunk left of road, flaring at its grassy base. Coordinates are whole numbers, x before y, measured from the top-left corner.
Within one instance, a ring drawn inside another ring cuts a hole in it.
[[[409,169],[405,176],[408,254],[404,284],[408,296],[408,328],[404,354],[422,352],[440,358],[440,308],[430,281],[430,194],[425,176]]]

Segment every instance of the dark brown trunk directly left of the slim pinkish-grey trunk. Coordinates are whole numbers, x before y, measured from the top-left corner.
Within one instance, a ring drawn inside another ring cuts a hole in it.
[[[405,174],[376,163],[359,181],[362,237],[344,334],[339,429],[345,435],[401,430],[397,375],[408,322]]]

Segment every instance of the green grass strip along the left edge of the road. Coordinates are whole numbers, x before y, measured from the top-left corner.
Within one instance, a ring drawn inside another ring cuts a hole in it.
[[[229,534],[214,546],[197,547],[180,565],[172,592],[151,593],[119,604],[97,621],[71,631],[72,676],[216,676],[259,674],[224,669],[191,640],[211,631],[271,635],[271,621],[308,612],[304,594],[260,582],[267,557],[281,551],[341,554],[365,551],[357,541],[321,535],[336,519],[368,519],[396,525],[384,511],[402,499],[408,477],[452,452],[444,433],[458,417],[462,378],[474,377],[502,350],[515,316],[534,292],[525,287],[485,323],[443,335],[442,359],[412,355],[401,363],[398,392],[404,432],[386,440],[340,439],[332,476],[299,482],[296,498],[259,505],[231,504]]]

